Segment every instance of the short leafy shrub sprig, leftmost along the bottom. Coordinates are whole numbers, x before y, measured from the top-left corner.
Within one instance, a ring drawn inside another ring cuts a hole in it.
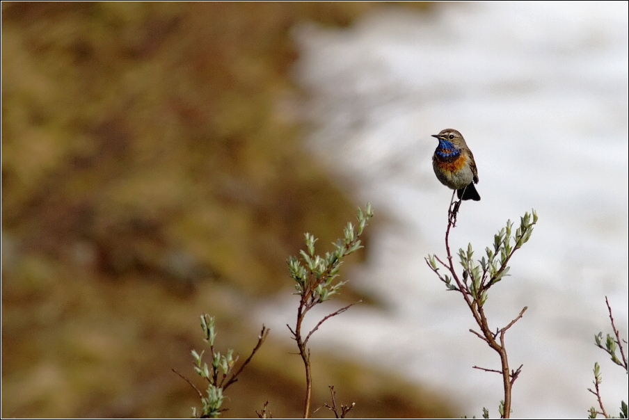
[[[177,372],[175,369],[173,369],[173,372],[177,373],[177,375],[180,375],[181,378],[188,382],[201,399],[200,412],[198,412],[196,407],[192,407],[192,416],[196,418],[200,417],[202,419],[207,419],[209,417],[216,418],[224,411],[224,409],[221,409],[223,399],[225,398],[225,396],[223,396],[223,391],[228,389],[228,387],[234,382],[237,382],[238,375],[244,371],[245,366],[249,364],[253,355],[255,355],[257,350],[264,343],[266,336],[269,335],[269,329],[262,325],[260,335],[257,337],[257,344],[253,348],[251,355],[236,372],[232,373],[232,370],[238,361],[238,355],[234,358],[234,350],[231,348],[225,355],[221,355],[221,352],[214,350],[214,339],[216,339],[216,332],[214,332],[214,317],[204,314],[200,316],[200,319],[201,329],[205,335],[205,342],[209,345],[209,355],[212,359],[210,366],[202,361],[205,350],[202,350],[200,354],[197,353],[196,350],[192,350],[191,354],[194,363],[194,371],[197,375],[207,381],[207,389],[205,391],[207,396],[204,396],[196,385],[194,385],[184,375]],[[230,373],[232,373],[231,376]]]

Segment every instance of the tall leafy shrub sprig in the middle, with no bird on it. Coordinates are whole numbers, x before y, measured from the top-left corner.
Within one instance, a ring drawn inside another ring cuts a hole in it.
[[[310,417],[310,404],[312,399],[312,374],[310,371],[310,349],[307,346],[308,340],[312,337],[312,334],[319,329],[322,323],[333,316],[347,311],[349,307],[358,302],[342,307],[336,312],[325,316],[310,332],[305,333],[305,335],[302,331],[303,319],[310,309],[331,298],[331,296],[338,293],[343,284],[345,284],[345,282],[335,282],[341,268],[342,259],[360,248],[363,248],[360,245],[359,238],[363,234],[363,229],[367,226],[367,220],[373,216],[371,204],[367,203],[365,211],[359,208],[356,214],[358,226],[355,227],[352,223],[347,223],[343,232],[344,239],[338,239],[336,243],[334,243],[335,250],[333,252],[326,252],[324,257],[314,255],[314,243],[317,239],[314,239],[314,236],[311,234],[304,234],[304,241],[308,251],[301,250],[299,258],[289,257],[287,261],[289,275],[295,282],[296,294],[299,296],[295,327],[291,328],[290,325],[287,325],[287,327],[293,336],[292,338],[297,343],[299,355],[301,355],[305,368],[306,393],[303,409],[303,417],[305,419]],[[335,406],[334,401],[333,406]],[[353,404],[351,407],[353,407]],[[347,412],[351,410],[351,407],[347,411],[342,410],[342,414],[347,414]],[[335,414],[337,414],[337,412],[335,412]]]

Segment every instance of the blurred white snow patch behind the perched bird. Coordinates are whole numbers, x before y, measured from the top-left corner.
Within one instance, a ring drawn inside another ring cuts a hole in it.
[[[618,415],[627,375],[594,335],[612,332],[608,296],[627,337],[628,26],[627,2],[545,1],[392,8],[349,29],[297,29],[308,147],[381,219],[367,228],[365,264],[341,274],[385,309],[356,305],[328,320],[313,355],[397,371],[452,396],[461,416],[482,407],[499,416],[502,378],[472,366],[500,369],[500,359],[424,262],[445,257],[452,195],[433,173],[430,135],[454,128],[474,153],[481,201],[463,202],[453,253],[472,243],[480,258],[507,219],[539,216],[485,305],[493,328],[528,307],[506,335],[511,369],[524,365],[512,417],[587,417],[596,361],[605,408]],[[334,305],[319,305],[310,323]],[[288,340],[296,307],[283,293],[255,318]]]

